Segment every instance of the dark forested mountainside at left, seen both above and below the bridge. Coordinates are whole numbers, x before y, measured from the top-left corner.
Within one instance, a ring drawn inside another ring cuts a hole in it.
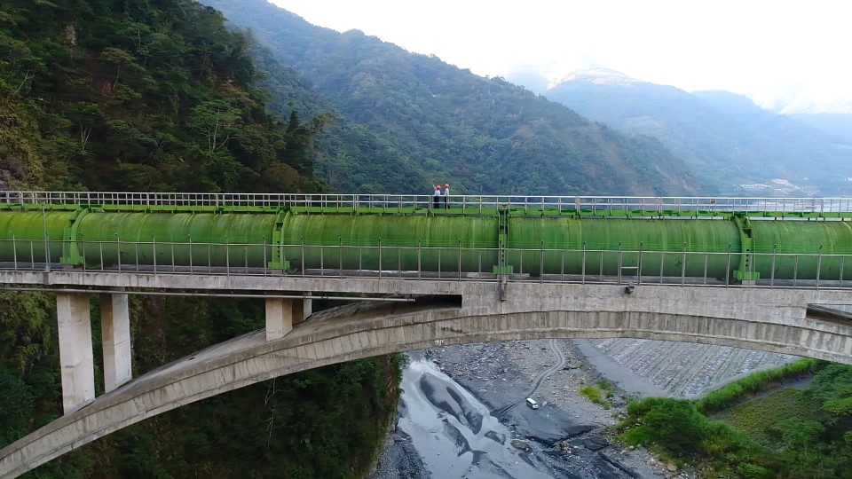
[[[0,189],[325,190],[312,148],[327,117],[297,102],[284,120],[269,114],[248,46],[188,0],[0,3]],[[266,86],[286,96],[277,89],[298,82]],[[136,376],[264,327],[258,301],[130,301]],[[61,412],[55,304],[49,293],[0,292],[0,447]],[[102,392],[97,299],[92,331]],[[398,374],[398,357],[375,357],[238,389],[30,476],[359,477],[395,410]]]

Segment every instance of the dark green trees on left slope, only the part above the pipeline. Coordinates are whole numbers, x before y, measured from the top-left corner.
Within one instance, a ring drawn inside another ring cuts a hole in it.
[[[305,158],[324,123],[266,113],[250,39],[217,12],[187,0],[16,0],[3,9],[0,140],[9,141],[0,167],[13,185],[322,188]]]

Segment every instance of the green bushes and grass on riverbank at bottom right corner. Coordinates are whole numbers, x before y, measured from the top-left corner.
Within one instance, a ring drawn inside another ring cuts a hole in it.
[[[777,390],[779,381],[807,373],[814,374],[808,389]],[[852,366],[803,359],[699,401],[631,401],[627,414],[619,425],[627,444],[675,464],[694,462],[706,477],[852,478]]]

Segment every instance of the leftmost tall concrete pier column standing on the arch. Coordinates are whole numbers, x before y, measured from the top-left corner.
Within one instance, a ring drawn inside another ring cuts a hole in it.
[[[67,414],[95,398],[89,294],[57,294],[56,313],[59,322],[62,411]]]

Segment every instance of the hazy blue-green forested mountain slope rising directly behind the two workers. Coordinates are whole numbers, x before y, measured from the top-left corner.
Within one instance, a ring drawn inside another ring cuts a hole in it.
[[[658,141],[588,122],[499,78],[472,75],[359,31],[314,27],[265,0],[205,3],[250,29],[344,121],[375,135],[380,149],[354,138],[322,142],[318,169],[344,191],[425,193],[434,181],[459,193],[711,192]],[[398,182],[399,165],[414,167],[416,182]],[[366,169],[376,173],[364,178]]]

